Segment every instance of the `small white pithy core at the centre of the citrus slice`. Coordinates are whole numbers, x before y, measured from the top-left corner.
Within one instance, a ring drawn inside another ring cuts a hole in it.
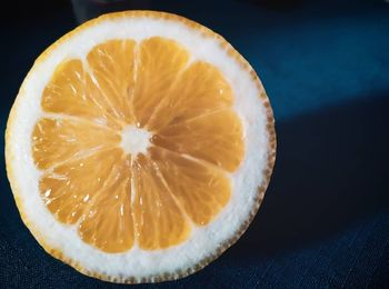
[[[121,131],[121,148],[126,153],[133,156],[146,153],[150,146],[152,133],[146,129],[137,128],[136,126],[127,126]]]

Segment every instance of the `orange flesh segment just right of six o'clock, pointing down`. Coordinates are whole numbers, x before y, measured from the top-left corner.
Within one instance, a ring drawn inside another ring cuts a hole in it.
[[[190,226],[159,168],[149,158],[139,155],[133,165],[133,176],[136,198],[132,206],[139,247],[156,250],[186,240]]]

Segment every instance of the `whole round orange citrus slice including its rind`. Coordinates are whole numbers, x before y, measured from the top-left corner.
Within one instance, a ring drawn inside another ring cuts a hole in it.
[[[220,36],[106,14],[36,61],[9,117],[22,220],[53,257],[114,282],[192,273],[247,229],[276,157],[269,100]]]

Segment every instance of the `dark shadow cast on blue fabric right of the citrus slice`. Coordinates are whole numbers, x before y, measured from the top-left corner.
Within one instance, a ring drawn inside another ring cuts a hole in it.
[[[388,209],[388,109],[389,91],[277,123],[270,187],[232,253],[298,249]]]

